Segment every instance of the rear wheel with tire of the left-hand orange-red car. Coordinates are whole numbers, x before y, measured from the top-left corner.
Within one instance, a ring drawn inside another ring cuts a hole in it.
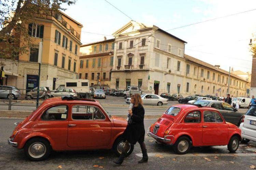
[[[33,138],[26,142],[24,152],[33,161],[45,160],[52,151],[50,143],[44,138]]]

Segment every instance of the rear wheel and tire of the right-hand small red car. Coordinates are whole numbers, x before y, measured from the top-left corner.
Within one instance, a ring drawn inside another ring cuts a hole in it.
[[[188,137],[179,137],[173,145],[173,150],[176,154],[186,154],[191,148],[191,141]]]

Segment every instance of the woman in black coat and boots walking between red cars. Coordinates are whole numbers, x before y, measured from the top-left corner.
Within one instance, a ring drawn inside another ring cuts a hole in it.
[[[123,138],[125,141],[125,147],[118,158],[118,160],[114,161],[115,164],[121,165],[127,155],[129,150],[129,143],[134,145],[136,142],[139,142],[141,151],[142,151],[142,159],[138,161],[138,163],[147,162],[147,150],[146,145],[144,143],[145,129],[144,129],[144,114],[145,110],[143,108],[143,103],[141,100],[140,94],[131,95],[131,103],[133,104],[132,109],[129,109],[128,112],[130,117],[128,120],[128,125],[123,133]]]

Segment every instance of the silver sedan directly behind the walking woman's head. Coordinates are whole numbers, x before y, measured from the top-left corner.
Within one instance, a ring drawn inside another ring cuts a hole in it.
[[[156,94],[142,94],[141,99],[144,105],[162,106],[162,105],[168,104],[168,99],[162,98],[161,96],[158,96]],[[130,97],[126,98],[125,102],[130,104],[131,98]]]

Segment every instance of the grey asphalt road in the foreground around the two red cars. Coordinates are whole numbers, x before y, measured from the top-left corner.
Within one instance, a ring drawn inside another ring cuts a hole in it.
[[[45,161],[29,161],[23,150],[17,150],[6,142],[14,128],[13,123],[20,119],[0,119],[0,169],[98,169],[94,165],[103,166],[103,169],[250,169],[256,166],[256,142],[248,145],[240,144],[236,154],[230,154],[227,146],[197,147],[192,148],[186,155],[176,155],[171,146],[156,144],[151,137],[145,137],[145,144],[149,160],[145,164],[137,164],[141,159],[139,144],[134,147],[133,153],[121,166],[114,166],[112,161],[116,159],[109,151],[79,151],[79,152],[53,152]],[[144,120],[145,127],[150,126],[156,120]],[[163,158],[156,157],[160,154]],[[218,158],[214,158],[217,156]],[[99,159],[104,157],[104,159]],[[175,158],[175,160],[173,160]],[[207,161],[204,158],[209,158]],[[232,161],[234,164],[230,163]]]

